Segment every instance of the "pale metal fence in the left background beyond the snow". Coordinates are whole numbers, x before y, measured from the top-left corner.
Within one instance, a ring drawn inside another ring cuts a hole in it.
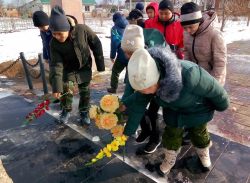
[[[34,28],[32,19],[0,18],[0,33],[15,32]]]

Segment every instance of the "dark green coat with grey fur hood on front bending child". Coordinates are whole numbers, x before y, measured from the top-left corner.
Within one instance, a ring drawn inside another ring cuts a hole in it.
[[[123,97],[128,121],[124,134],[135,133],[151,99],[163,107],[163,119],[171,127],[195,127],[209,122],[214,111],[224,111],[229,97],[224,88],[204,69],[189,61],[179,61],[169,48],[149,50],[160,70],[159,89],[155,95],[134,92]],[[132,90],[126,85],[124,95]]]

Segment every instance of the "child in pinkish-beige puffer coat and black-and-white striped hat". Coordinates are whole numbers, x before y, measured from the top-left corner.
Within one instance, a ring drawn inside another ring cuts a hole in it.
[[[215,19],[213,11],[202,16],[199,5],[193,2],[181,7],[185,59],[195,62],[224,85],[227,47],[222,33],[213,26]]]

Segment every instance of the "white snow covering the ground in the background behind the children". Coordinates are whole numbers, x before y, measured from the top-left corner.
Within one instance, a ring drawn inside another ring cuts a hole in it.
[[[98,21],[86,22],[97,32],[103,46],[104,57],[109,58],[110,29],[112,21],[104,21],[103,26]],[[219,25],[217,25],[219,27]],[[0,34],[0,63],[8,60],[16,60],[20,52],[24,52],[27,59],[37,58],[42,52],[42,41],[38,29],[28,29],[14,33]],[[239,40],[250,40],[250,27],[246,26],[246,20],[228,21],[223,32],[226,43]]]

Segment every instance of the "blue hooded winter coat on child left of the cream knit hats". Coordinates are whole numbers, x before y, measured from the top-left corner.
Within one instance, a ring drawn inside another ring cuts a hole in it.
[[[128,64],[128,59],[126,58],[122,48],[121,40],[123,37],[123,32],[125,27],[128,25],[128,21],[125,17],[121,16],[115,20],[115,25],[111,29],[111,49],[110,58],[115,59],[125,65]]]

